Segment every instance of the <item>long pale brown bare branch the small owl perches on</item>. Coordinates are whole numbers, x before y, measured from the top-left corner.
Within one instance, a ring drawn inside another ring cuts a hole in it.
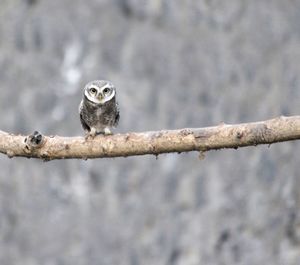
[[[84,137],[29,136],[0,131],[0,152],[8,157],[53,159],[89,159],[159,155],[172,152],[217,150],[300,139],[300,116],[214,127],[163,130],[142,133]]]

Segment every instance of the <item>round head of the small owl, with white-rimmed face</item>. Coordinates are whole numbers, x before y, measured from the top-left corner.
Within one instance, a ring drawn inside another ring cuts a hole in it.
[[[85,86],[84,95],[93,103],[104,104],[116,95],[116,88],[109,81],[95,80]]]

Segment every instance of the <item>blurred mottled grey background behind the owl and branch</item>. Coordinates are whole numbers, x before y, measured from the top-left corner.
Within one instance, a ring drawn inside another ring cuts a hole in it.
[[[298,0],[1,0],[0,129],[83,135],[300,113]],[[0,264],[300,264],[300,143],[41,162],[0,156]]]

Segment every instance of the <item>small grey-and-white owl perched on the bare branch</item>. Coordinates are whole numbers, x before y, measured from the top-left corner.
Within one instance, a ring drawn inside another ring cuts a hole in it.
[[[116,127],[120,119],[114,85],[105,80],[88,83],[79,105],[79,115],[86,137],[112,134],[110,129]]]

